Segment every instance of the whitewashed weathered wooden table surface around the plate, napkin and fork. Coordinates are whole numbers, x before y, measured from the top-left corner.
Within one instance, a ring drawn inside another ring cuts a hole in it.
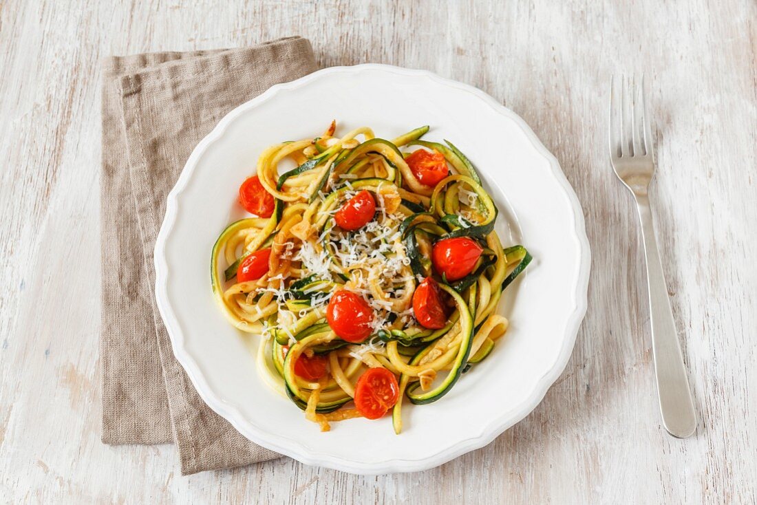
[[[282,458],[182,477],[171,445],[100,442],[98,61],[294,34],[324,67],[423,68],[493,95],[584,209],[589,309],[565,372],[525,420],[437,469],[366,477]],[[0,501],[755,503],[755,51],[750,0],[0,2]],[[640,232],[606,152],[610,76],[641,71],[699,416],[686,440],[660,424]]]

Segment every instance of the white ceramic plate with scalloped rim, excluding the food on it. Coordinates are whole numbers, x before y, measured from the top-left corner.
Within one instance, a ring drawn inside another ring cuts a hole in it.
[[[441,401],[407,404],[401,435],[390,416],[335,422],[331,432],[319,432],[265,385],[255,352],[210,291],[210,249],[245,215],[238,185],[254,172],[260,152],[317,135],[332,119],[338,131],[370,126],[388,139],[431,125],[425,139],[450,139],[478,167],[500,208],[503,245],[522,243],[534,256],[500,305],[510,320],[506,338]],[[366,64],[273,86],[198,144],[168,197],[155,247],[155,294],[176,359],[203,400],[242,435],[309,465],[413,472],[483,447],[537,406],[570,357],[586,311],[589,263],[578,199],[520,117],[472,86]]]

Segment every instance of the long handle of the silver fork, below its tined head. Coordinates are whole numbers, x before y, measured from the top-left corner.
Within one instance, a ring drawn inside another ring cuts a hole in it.
[[[673,321],[668,288],[662,273],[649,195],[636,195],[646,257],[646,280],[650,291],[652,356],[662,424],[668,433],[686,438],[696,430],[696,414],[687,379],[681,344]]]

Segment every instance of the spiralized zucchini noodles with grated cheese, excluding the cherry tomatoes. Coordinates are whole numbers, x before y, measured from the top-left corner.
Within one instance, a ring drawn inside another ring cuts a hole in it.
[[[322,431],[329,422],[362,416],[355,401],[359,379],[382,368],[397,379],[400,397],[389,408],[399,434],[403,397],[413,404],[438,401],[508,329],[497,306],[531,255],[521,245],[503,248],[494,231],[497,206],[472,163],[448,141],[421,140],[426,132],[422,126],[390,141],[361,127],[340,137],[332,122],[321,136],[266,148],[257,161],[257,187],[261,198],[273,197],[273,212],[231,223],[213,245],[210,276],[220,310],[235,328],[262,335],[256,366],[266,384]],[[438,182],[421,180],[409,159],[418,149],[430,150],[435,170],[443,169],[433,179]],[[285,161],[296,167],[282,170]],[[342,229],[335,214],[363,190],[372,195],[375,214],[358,229]],[[450,281],[432,251],[440,241],[463,237],[481,254]],[[242,268],[263,253],[266,273],[243,277]],[[446,323],[438,326],[424,323],[413,308],[427,278],[435,279],[447,307],[440,309]],[[341,290],[372,311],[361,343],[342,340],[329,326],[329,301]],[[325,371],[301,375],[301,361],[315,357]]]

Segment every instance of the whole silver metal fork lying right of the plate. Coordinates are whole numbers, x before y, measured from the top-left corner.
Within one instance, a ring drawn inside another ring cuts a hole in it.
[[[643,77],[639,87],[636,79],[629,80],[622,78],[620,86],[616,86],[615,79],[610,82],[610,159],[615,175],[634,194],[641,220],[650,294],[652,356],[662,424],[674,437],[685,438],[696,430],[696,415],[662,273],[648,195],[655,172],[650,116]]]

